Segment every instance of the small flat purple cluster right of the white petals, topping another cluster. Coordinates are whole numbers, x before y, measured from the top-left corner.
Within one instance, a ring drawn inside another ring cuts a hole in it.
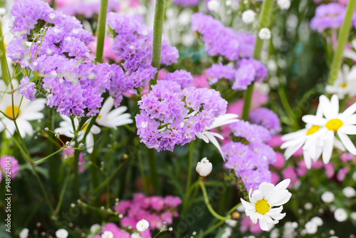
[[[229,125],[231,133],[236,137],[245,138],[249,143],[263,143],[271,139],[269,131],[261,125],[250,124],[239,120]]]

